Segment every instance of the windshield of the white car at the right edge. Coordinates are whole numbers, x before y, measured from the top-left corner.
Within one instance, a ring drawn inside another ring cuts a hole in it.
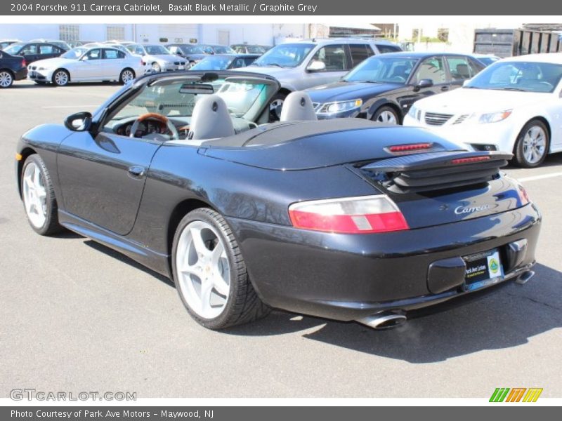
[[[562,65],[542,62],[495,62],[464,88],[552,92],[562,77]]]

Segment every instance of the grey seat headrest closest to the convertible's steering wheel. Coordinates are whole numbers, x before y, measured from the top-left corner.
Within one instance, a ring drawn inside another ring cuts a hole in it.
[[[234,134],[233,121],[223,98],[204,95],[195,102],[190,123],[190,140],[226,138]]]

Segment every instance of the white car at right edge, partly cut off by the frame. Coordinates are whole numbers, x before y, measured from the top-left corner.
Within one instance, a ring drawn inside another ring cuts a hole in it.
[[[562,152],[562,54],[505,58],[461,89],[415,102],[405,126],[422,126],[474,150],[512,152],[523,167]]]

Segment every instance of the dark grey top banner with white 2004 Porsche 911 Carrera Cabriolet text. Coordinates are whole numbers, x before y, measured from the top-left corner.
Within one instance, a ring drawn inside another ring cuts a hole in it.
[[[534,0],[8,0],[0,15],[556,15]]]

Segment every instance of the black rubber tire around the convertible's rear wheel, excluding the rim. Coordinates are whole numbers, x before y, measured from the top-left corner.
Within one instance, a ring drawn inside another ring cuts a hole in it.
[[[226,305],[218,316],[214,319],[204,319],[197,312],[195,312],[185,299],[181,291],[181,286],[178,281],[178,269],[176,267],[176,254],[178,253],[178,242],[181,233],[191,222],[202,221],[211,225],[218,232],[223,245],[225,246],[228,264],[230,266],[230,290]],[[248,277],[246,265],[240,252],[240,247],[233,236],[233,232],[228,226],[228,223],[217,212],[209,208],[199,208],[192,210],[185,215],[180,221],[176,234],[174,235],[174,243],[172,246],[172,272],[174,274],[174,283],[176,283],[176,290],[183,302],[183,305],[188,310],[190,316],[205,328],[218,330],[236,326],[243,323],[256,321],[270,313],[270,307],[265,305],[256,294],[254,287]]]

